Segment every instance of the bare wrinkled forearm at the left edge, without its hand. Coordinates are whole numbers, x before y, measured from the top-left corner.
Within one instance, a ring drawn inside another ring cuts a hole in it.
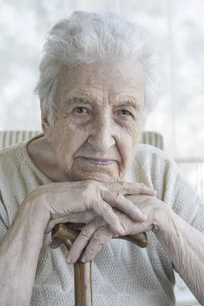
[[[36,203],[28,201],[21,204],[0,244],[2,306],[30,305],[44,234],[42,226],[37,221],[34,206],[36,208]]]

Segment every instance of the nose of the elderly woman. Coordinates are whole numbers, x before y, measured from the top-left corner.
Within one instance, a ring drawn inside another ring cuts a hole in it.
[[[111,118],[97,118],[93,124],[88,143],[97,152],[108,152],[110,147],[115,144],[114,125]]]

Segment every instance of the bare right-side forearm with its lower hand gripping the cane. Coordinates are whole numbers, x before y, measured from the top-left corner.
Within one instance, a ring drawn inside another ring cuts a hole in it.
[[[118,211],[117,215],[125,227],[125,233],[121,236],[152,230],[189,289],[197,300],[204,305],[204,234],[183,220],[166,203],[155,197],[145,195],[128,195],[126,197],[137,205],[147,216],[147,220],[142,223],[134,222]],[[186,205],[186,209],[187,207]],[[190,205],[190,207],[192,206]],[[186,212],[184,209],[182,211]],[[203,205],[200,201],[197,207],[192,209],[189,218],[192,219],[193,213],[199,216],[200,214],[203,215],[203,212]],[[202,230],[202,220],[196,220],[196,217],[194,217],[192,224],[197,227],[200,224],[200,230]],[[96,219],[87,224],[69,251],[69,262],[76,262],[86,246],[82,261],[83,259],[85,259],[84,262],[91,261],[101,246],[108,243],[112,237],[115,236],[103,220]]]

